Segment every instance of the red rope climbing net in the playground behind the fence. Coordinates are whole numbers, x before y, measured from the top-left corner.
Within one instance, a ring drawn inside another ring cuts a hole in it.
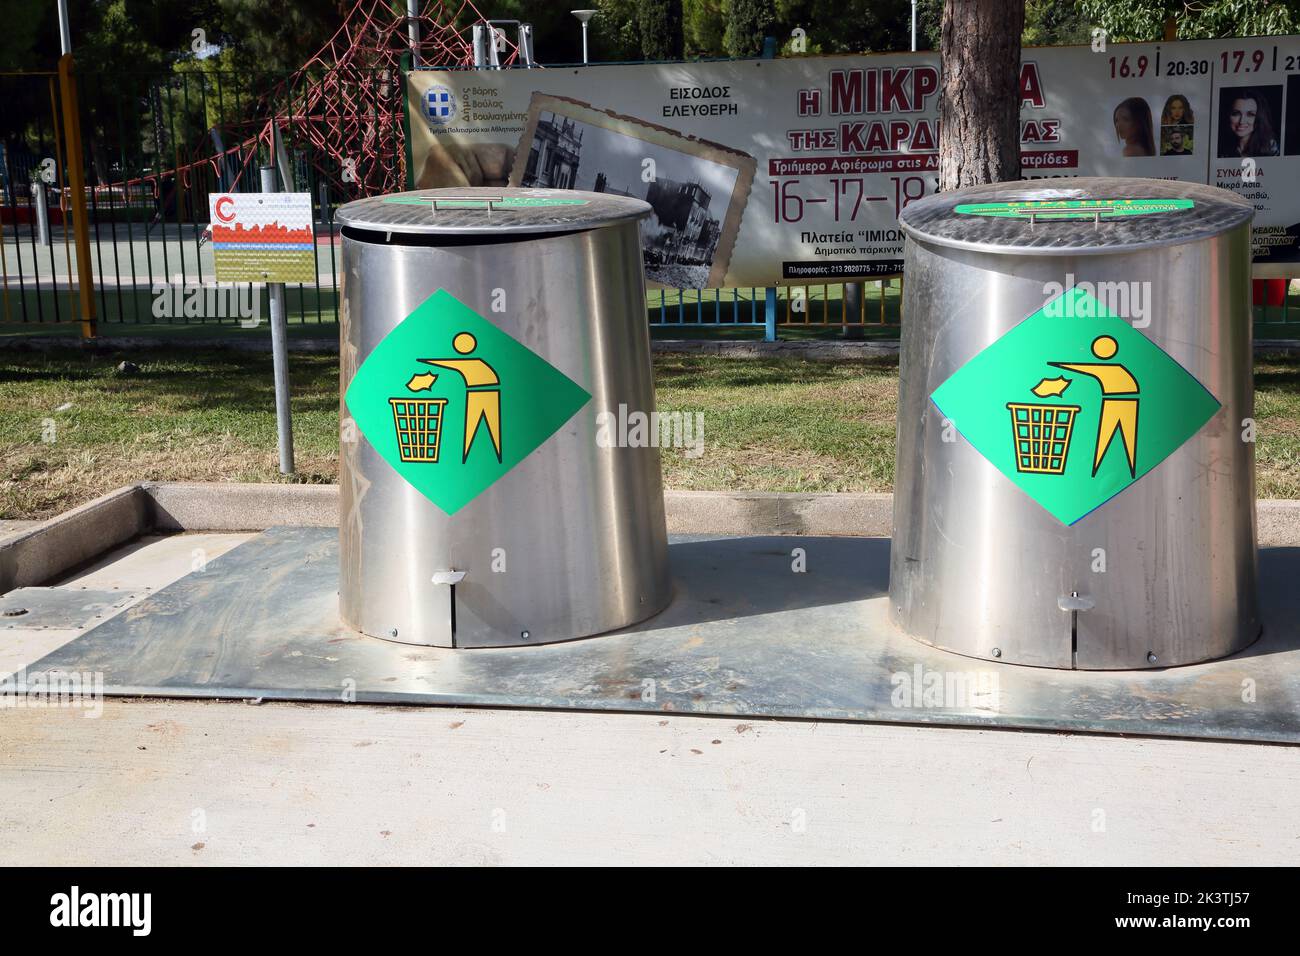
[[[473,66],[474,36],[480,33],[474,27],[488,23],[469,0],[425,0],[408,8],[417,12],[402,16],[385,0],[356,0],[325,46],[289,75],[254,77],[238,87],[225,77],[229,104],[222,98],[220,72],[151,78],[153,82],[140,90],[138,99],[152,126],[140,131],[152,139],[155,168],[140,176],[112,178],[103,169],[103,159],[87,144],[86,165],[98,179],[91,186],[94,200],[105,208],[129,206],[142,198],[142,187],[148,187],[153,200],[161,202],[168,179],[179,189],[196,189],[207,170],[226,190],[246,187],[246,170],[254,160],[274,159],[277,134],[289,151],[307,157],[311,178],[326,183],[339,198],[400,190],[406,182],[403,66]],[[494,65],[512,65],[519,57],[516,43],[503,30],[493,35]],[[100,103],[105,101],[91,98],[84,104],[83,120],[94,127],[104,122],[94,116]],[[196,137],[187,117],[195,107],[203,118],[214,120],[200,124]],[[112,127],[107,131],[113,133]],[[124,124],[122,133],[129,131],[130,125]],[[114,144],[125,148],[122,142]],[[170,166],[166,159],[173,159]],[[10,173],[26,172],[13,165]]]

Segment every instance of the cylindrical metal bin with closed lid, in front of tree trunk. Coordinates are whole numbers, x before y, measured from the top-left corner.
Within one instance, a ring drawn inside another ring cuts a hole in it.
[[[904,631],[1078,669],[1206,661],[1260,635],[1252,215],[1225,190],[1102,178],[902,211]]]

